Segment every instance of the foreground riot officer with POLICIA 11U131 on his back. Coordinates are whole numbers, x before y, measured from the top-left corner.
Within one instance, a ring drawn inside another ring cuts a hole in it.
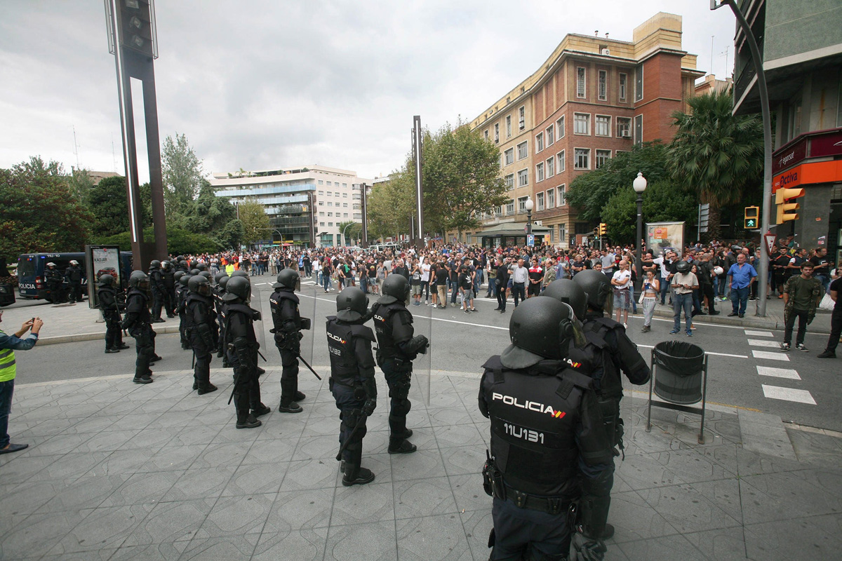
[[[566,561],[572,502],[580,489],[613,476],[594,382],[565,362],[577,329],[567,304],[528,299],[509,322],[512,344],[482,365],[479,409],[491,419],[491,457],[482,470],[494,497],[491,559]],[[597,538],[577,537],[574,547],[579,558],[605,553]]]

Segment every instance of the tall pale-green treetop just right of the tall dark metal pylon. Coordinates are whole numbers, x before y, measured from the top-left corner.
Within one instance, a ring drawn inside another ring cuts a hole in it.
[[[185,135],[167,136],[161,152],[164,202],[167,214],[183,213],[199,193],[202,161],[196,156]]]

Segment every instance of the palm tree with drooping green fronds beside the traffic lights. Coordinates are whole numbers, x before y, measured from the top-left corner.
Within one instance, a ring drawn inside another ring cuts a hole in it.
[[[720,209],[738,202],[763,173],[763,124],[756,114],[731,114],[732,96],[730,90],[706,93],[688,100],[689,114],[672,114],[678,132],[667,151],[667,167],[677,183],[711,205],[711,237],[720,234]]]

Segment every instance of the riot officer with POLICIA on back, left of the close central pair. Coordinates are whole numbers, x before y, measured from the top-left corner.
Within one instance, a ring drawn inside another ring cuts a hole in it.
[[[375,337],[370,327],[363,325],[369,317],[367,306],[368,298],[360,288],[345,288],[336,297],[336,315],[328,317],[328,386],[342,421],[339,445],[344,448],[342,484],[346,487],[374,481],[371,470],[360,467],[367,431],[365,419],[377,406],[375,362],[371,354]]]

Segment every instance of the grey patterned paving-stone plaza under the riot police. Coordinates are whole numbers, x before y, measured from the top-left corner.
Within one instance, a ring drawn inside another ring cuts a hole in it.
[[[258,429],[236,430],[230,371],[213,369],[220,391],[205,396],[190,391],[191,374],[163,371],[148,385],[131,384],[131,373],[18,384],[10,431],[30,446],[0,456],[0,558],[488,558],[478,373],[434,374],[429,406],[413,400],[418,452],[408,455],[386,453],[378,375],[363,460],[377,477],[350,488],[334,459],[327,382],[302,372],[304,413],[273,412]],[[273,408],[279,376],[269,368],[262,378]],[[626,458],[606,559],[837,557],[842,439],[784,429],[778,418],[791,445],[775,447],[751,429],[762,419],[709,410],[700,446],[698,416],[654,409],[647,432],[634,395],[623,402]]]

